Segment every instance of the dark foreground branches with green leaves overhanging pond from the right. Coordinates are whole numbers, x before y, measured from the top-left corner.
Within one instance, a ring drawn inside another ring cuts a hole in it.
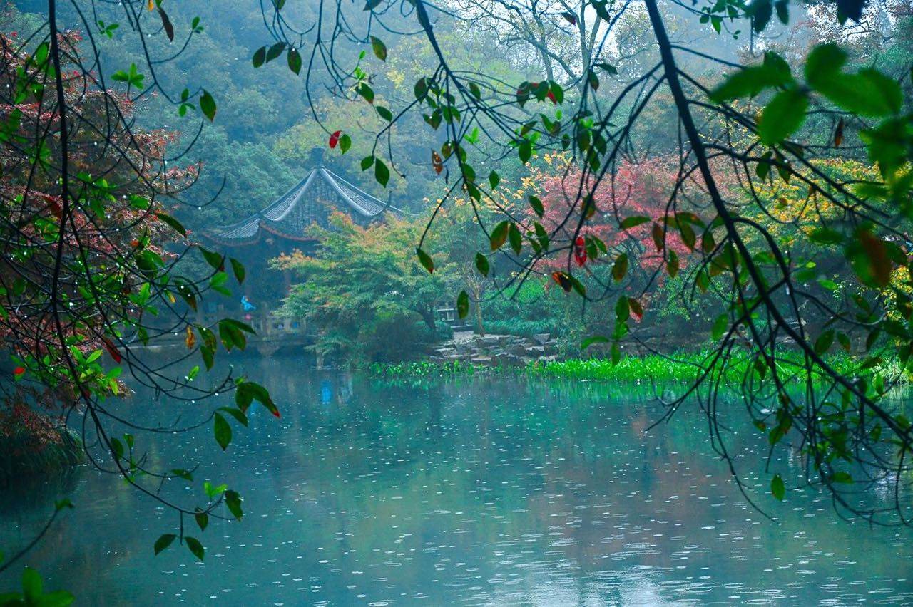
[[[573,5],[570,12],[580,15],[598,10],[599,4],[589,0]],[[847,19],[858,22],[865,3],[841,0],[826,4],[835,6],[834,18],[844,23]],[[488,170],[479,170],[486,157],[477,151],[479,141],[488,149],[499,148],[505,163],[514,159],[519,165],[533,161],[537,152],[568,150],[573,159],[571,170],[579,170],[581,175],[577,180],[581,187],[566,211],[569,224],[558,222],[561,227],[549,231],[528,213],[501,208],[507,220],[480,221],[479,228],[491,250],[503,251],[512,260],[523,255],[525,270],[518,281],[524,273],[539,273],[540,262],[557,255],[567,268],[556,279],[564,290],[578,293],[587,303],[614,300],[617,330],[610,339],[616,345],[631,338],[624,327],[631,322],[634,293],[628,291],[630,283],[622,280],[629,264],[619,264],[614,288],[593,293],[579,278],[586,268],[574,269],[573,243],[590,230],[595,194],[626,162],[639,162],[638,155],[649,153],[649,149],[638,149],[635,133],[643,128],[651,108],[663,98],[671,100],[677,121],[672,134],[677,148],[676,178],[665,212],[654,218],[661,231],[656,248],[666,273],[674,274],[677,266],[669,238],[677,234],[693,249],[686,292],[713,291],[721,295],[723,303],[713,313],[714,351],[696,374],[692,389],[668,403],[668,415],[697,398],[707,411],[714,446],[729,460],[740,487],[746,489],[730,457],[727,431],[718,412],[723,405],[719,395],[726,384],[726,370],[737,360],[739,364],[747,360],[749,374],[740,385],[728,387],[744,396],[744,421],[767,435],[771,453],[787,446],[798,449],[805,462],[805,480],[829,490],[841,509],[879,522],[907,522],[911,505],[899,496],[904,495],[902,486],[910,478],[913,428],[886,398],[891,377],[874,369],[886,357],[895,357],[904,367],[913,362],[909,322],[913,307],[906,287],[892,282],[896,273],[908,275],[909,264],[906,242],[913,209],[909,66],[898,69],[895,64],[894,71],[852,67],[847,52],[830,43],[813,46],[799,60],[801,65],[790,65],[772,50],[760,61],[749,54],[743,64],[737,64],[674,44],[666,26],[666,7],[656,0],[645,0],[643,6],[645,23],[658,49],[657,62],[615,87],[617,94],[611,97],[600,90],[603,80],[613,77],[613,70],[592,56],[581,66],[588,86],[575,96],[566,94],[568,83],[557,76],[515,86],[492,77],[484,68],[454,67],[448,59],[450,48],[437,36],[454,5],[427,0],[369,2],[365,10],[370,15],[362,29],[346,28],[330,38],[320,32],[314,39],[320,60],[310,64],[309,73],[331,71],[339,94],[371,103],[373,66],[368,63],[341,72],[331,49],[343,37],[371,39],[377,61],[383,62],[386,46],[378,36],[383,36],[387,24],[398,23],[406,15],[437,61],[415,82],[414,99],[389,110],[391,122],[425,112],[428,132],[445,139],[432,153],[427,170],[456,177],[451,192],[458,195],[464,190],[478,205],[498,205],[491,195],[496,180],[488,182]],[[320,9],[338,15],[347,10],[331,0],[321,2]],[[792,9],[795,3],[788,0],[759,0],[750,5],[724,1],[684,8],[695,24],[692,27],[707,24],[732,36],[748,31],[750,51],[770,46],[764,36],[773,28],[774,15],[786,24]],[[551,5],[515,5],[515,10],[522,13],[524,23],[554,16],[549,14]],[[274,19],[284,15],[280,5],[267,12]],[[456,16],[462,15],[457,11]],[[582,21],[578,16],[577,23]],[[296,31],[309,30],[305,25]],[[270,43],[288,42],[278,28],[270,29],[269,34],[274,38]],[[720,78],[720,74],[725,76]],[[391,155],[393,148],[383,145],[389,132],[384,127],[373,138],[376,145],[364,163],[368,167],[389,165],[396,174],[400,171],[398,160]],[[747,136],[733,137],[742,132]],[[866,161],[876,167],[877,175],[845,180],[816,164],[818,159],[833,156]],[[386,185],[390,174],[379,171],[378,181]],[[827,201],[837,210],[817,213],[819,227],[803,232],[805,242],[800,246],[751,219],[765,205],[756,193],[758,186],[776,180],[802,183],[814,191],[818,201]],[[733,182],[739,187],[729,188]],[[694,188],[700,191],[697,203],[692,199]],[[582,221],[572,221],[574,217]],[[639,221],[632,217],[636,216],[616,217],[618,230],[624,231],[625,222]],[[570,238],[562,241],[564,225],[573,228]],[[543,246],[541,231],[550,244],[561,241],[562,245]],[[591,238],[597,248],[604,246],[608,252],[602,239]],[[422,246],[419,242],[420,249]],[[804,287],[808,281],[820,282],[825,277],[818,275],[803,251],[823,251],[824,247],[841,254],[837,270],[852,281],[851,288],[837,293],[839,305],[829,304]],[[615,264],[623,254],[609,256]],[[646,288],[656,284],[658,275]],[[819,328],[806,329],[804,318],[809,315],[827,320]],[[789,345],[783,344],[782,337],[788,338]],[[854,347],[854,340],[861,345]],[[853,365],[838,368],[832,364],[827,353],[834,344],[845,345]],[[885,479],[894,484],[898,496],[890,508],[867,508],[854,499],[860,487]],[[780,474],[771,475],[770,490],[776,498],[783,498],[785,487]],[[746,495],[750,498],[747,490]]]

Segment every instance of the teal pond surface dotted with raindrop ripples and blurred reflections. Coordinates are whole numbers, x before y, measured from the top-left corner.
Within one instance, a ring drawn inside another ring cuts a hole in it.
[[[698,415],[645,436],[658,411],[633,388],[395,386],[290,358],[241,365],[281,420],[257,412],[225,456],[208,428],[150,453],[243,489],[245,520],[197,533],[205,563],[175,547],[153,558],[174,515],[90,468],[0,494],[0,545],[25,540],[68,494],[77,508],[29,560],[87,605],[913,602],[910,530],[845,523],[809,494],[761,496],[780,522],[766,520],[712,457]],[[170,412],[140,396],[129,406]],[[759,437],[737,438],[740,453],[764,453]],[[202,481],[165,490],[202,501]]]

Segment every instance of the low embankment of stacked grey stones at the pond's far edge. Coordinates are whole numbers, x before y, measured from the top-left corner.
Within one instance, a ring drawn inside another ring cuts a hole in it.
[[[453,339],[436,344],[428,353],[433,363],[456,361],[474,365],[523,366],[533,361],[551,362],[557,358],[556,340],[550,334],[477,335],[455,333]]]

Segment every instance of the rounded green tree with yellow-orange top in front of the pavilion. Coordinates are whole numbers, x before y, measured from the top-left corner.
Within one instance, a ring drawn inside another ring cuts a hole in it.
[[[429,274],[415,260],[423,226],[389,217],[362,227],[334,213],[329,228],[310,229],[320,241],[315,255],[293,252],[271,262],[302,281],[292,287],[282,312],[317,329],[321,355],[357,362],[415,356],[423,341],[416,324],[435,336],[436,309],[450,299],[441,278],[446,264]]]

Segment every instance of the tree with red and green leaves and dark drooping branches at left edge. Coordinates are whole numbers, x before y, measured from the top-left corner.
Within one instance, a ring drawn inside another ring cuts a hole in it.
[[[149,11],[145,4],[124,3],[134,31],[142,32],[154,16],[158,35],[172,39],[173,24],[163,8],[153,5]],[[193,517],[205,530],[213,509],[222,504],[240,519],[239,493],[205,483],[204,498],[190,506],[163,491],[165,479],[193,482],[192,471],[181,462],[165,469],[153,465],[144,457],[146,441],[161,428],[121,417],[110,399],[131,385],[151,386],[176,403],[207,402],[218,392],[234,391],[235,406],[212,407],[190,427],[174,427],[189,431],[212,424],[222,448],[231,440],[226,415],[246,425],[247,409],[256,400],[278,416],[267,390],[244,377],[228,372],[211,388],[194,383],[200,365],[191,362],[191,355],[200,355],[209,370],[219,344],[231,350],[247,343],[251,329],[246,324],[223,319],[205,325],[194,316],[208,293],[227,292],[228,272],[240,282],[244,269],[199,249],[212,272],[191,280],[174,271],[175,262],[197,248],[185,240],[187,231],[170,212],[193,184],[198,166],[182,166],[184,153],[173,133],[136,125],[136,108],[153,91],[171,99],[176,113],[198,111],[207,120],[215,118],[215,98],[186,89],[171,97],[155,77],[154,66],[161,61],[149,55],[145,69],[133,63],[109,71],[95,40],[116,26],[82,25],[85,40],[61,31],[52,0],[47,20],[34,32],[0,36],[0,334],[13,365],[0,375],[0,414],[5,430],[26,427],[39,433],[39,448],[41,441],[55,439],[48,429],[81,418],[76,426],[82,428],[89,460],[175,513],[177,532],[163,534],[154,551],[178,539],[203,559],[203,544],[186,532],[184,520]],[[144,36],[139,37],[143,44]],[[166,251],[169,242],[177,252]],[[186,355],[154,364],[140,355],[142,345],[173,333],[184,337]],[[68,499],[59,500],[41,534],[72,507]],[[0,571],[16,564],[39,539],[17,547],[0,562]],[[19,599],[41,600],[37,572],[26,569],[23,584]],[[4,595],[4,601],[16,598]],[[46,600],[66,604],[72,597],[56,593]]]

